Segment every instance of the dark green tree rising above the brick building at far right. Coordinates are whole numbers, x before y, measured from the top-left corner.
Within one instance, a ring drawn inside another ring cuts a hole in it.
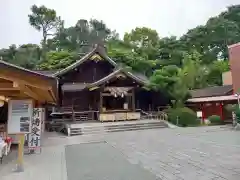
[[[210,18],[205,25],[189,30],[180,40],[185,50],[196,49],[203,55],[205,64],[218,59],[228,59],[227,45],[240,41],[240,5],[228,7],[216,17]]]

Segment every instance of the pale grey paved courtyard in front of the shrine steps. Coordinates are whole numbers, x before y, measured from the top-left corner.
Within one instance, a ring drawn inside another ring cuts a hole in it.
[[[47,135],[49,136],[49,135]],[[239,180],[240,132],[200,127],[45,139],[25,171],[0,165],[1,180]]]

